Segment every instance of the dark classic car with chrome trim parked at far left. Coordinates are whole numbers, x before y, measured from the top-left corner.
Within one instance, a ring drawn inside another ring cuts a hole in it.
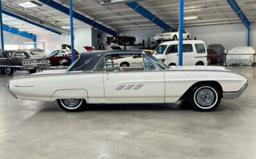
[[[38,69],[44,70],[49,67],[49,60],[31,57],[26,51],[4,50],[0,52],[0,70],[6,75],[12,75],[15,71],[35,73]]]

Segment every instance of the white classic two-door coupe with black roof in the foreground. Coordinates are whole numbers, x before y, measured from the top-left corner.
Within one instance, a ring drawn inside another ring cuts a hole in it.
[[[113,58],[140,55],[140,66],[107,64]],[[188,100],[192,109],[212,111],[221,98],[239,97],[248,79],[223,67],[167,68],[150,53],[138,50],[82,53],[66,71],[15,76],[8,82],[14,97],[54,101],[65,111],[86,104],[173,103]]]

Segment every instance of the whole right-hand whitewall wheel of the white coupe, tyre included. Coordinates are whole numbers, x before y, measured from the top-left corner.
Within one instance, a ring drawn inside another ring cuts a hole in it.
[[[221,95],[211,84],[201,84],[192,89],[188,100],[194,111],[212,111],[219,106]]]

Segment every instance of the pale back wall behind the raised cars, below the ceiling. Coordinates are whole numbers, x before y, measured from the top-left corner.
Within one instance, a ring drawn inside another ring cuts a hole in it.
[[[192,39],[196,37],[205,41],[208,46],[210,44],[222,44],[226,49],[230,50],[236,46],[247,45],[247,29],[243,24],[223,24],[213,26],[193,26],[186,28],[188,32],[192,33]],[[154,35],[162,32],[159,29],[150,30],[123,30],[128,35],[136,37],[136,44],[141,44],[145,39],[145,46],[147,46],[147,37],[150,37],[150,41],[154,41]],[[102,41],[104,37],[108,37],[106,33],[102,34]],[[256,26],[250,28],[250,44],[256,49]],[[105,44],[105,41],[104,41]]]

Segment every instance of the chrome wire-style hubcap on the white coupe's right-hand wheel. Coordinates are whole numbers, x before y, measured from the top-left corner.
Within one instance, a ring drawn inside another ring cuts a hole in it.
[[[212,106],[214,100],[214,93],[208,88],[203,88],[196,94],[196,102],[201,106]]]

